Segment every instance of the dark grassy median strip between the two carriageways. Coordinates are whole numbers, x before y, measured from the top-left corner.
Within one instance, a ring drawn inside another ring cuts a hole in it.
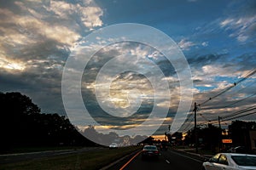
[[[114,150],[94,150],[86,151],[68,156],[56,156],[32,161],[20,161],[16,163],[2,164],[0,169],[20,169],[20,170],[41,170],[41,169],[86,169],[95,170],[108,165],[109,163],[126,156],[135,150],[137,146],[119,148]]]

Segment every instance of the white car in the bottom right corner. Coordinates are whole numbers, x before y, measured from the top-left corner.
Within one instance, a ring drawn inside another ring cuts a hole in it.
[[[203,170],[251,170],[256,169],[256,155],[218,153],[202,164]]]

